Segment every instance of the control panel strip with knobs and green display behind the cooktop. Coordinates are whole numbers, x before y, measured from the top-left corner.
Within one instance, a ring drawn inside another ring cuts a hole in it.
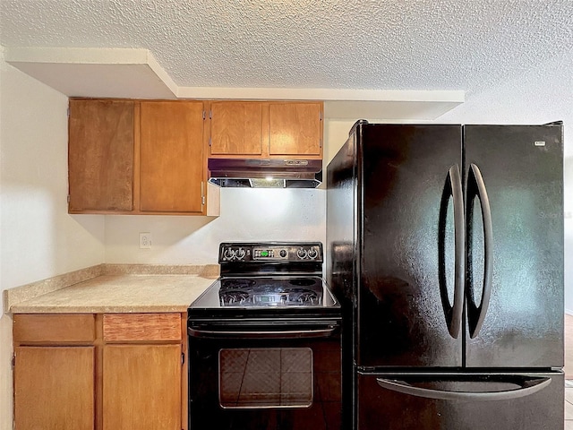
[[[322,262],[322,244],[320,242],[224,243],[219,246],[218,262]]]

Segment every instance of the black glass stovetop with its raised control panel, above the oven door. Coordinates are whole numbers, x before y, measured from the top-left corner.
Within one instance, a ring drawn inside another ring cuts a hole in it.
[[[221,277],[190,305],[190,315],[339,311],[321,277],[320,243],[223,243],[219,264]]]

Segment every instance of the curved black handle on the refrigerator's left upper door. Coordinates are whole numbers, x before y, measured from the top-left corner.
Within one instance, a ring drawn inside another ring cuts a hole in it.
[[[453,304],[449,303],[445,273],[445,235],[449,196],[454,206],[454,295]],[[464,214],[464,193],[459,166],[449,168],[448,179],[442,195],[440,207],[440,295],[448,324],[449,335],[458,339],[464,312],[464,284],[466,276],[466,223]]]

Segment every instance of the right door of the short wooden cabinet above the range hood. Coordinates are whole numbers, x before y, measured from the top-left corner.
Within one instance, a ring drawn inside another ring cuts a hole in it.
[[[269,155],[322,154],[321,103],[270,103]]]

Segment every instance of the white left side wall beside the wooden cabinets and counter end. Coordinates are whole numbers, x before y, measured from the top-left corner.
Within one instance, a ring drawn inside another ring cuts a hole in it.
[[[64,95],[6,64],[0,47],[0,292],[104,261],[103,217],[67,214],[66,109]],[[11,358],[2,313],[0,429],[12,428]]]

